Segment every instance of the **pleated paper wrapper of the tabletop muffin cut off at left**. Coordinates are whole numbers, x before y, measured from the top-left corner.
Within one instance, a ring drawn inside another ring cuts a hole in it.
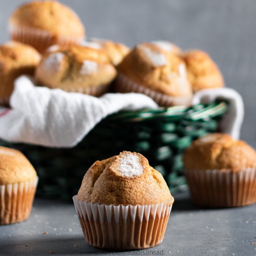
[[[34,181],[0,185],[0,224],[26,220],[30,215],[38,177]]]

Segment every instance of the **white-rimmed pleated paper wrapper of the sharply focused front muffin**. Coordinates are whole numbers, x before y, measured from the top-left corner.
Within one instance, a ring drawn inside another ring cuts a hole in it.
[[[174,199],[150,205],[105,205],[73,196],[85,240],[108,249],[143,249],[162,243]]]

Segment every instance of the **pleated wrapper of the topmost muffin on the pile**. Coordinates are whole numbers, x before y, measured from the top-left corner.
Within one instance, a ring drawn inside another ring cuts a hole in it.
[[[84,40],[82,37],[75,38],[64,35],[55,36],[42,29],[13,25],[9,25],[9,32],[12,40],[32,45],[40,53],[43,53],[49,46],[54,44],[69,46]]]

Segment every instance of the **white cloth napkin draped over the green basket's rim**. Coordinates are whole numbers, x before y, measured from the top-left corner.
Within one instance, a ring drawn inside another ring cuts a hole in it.
[[[231,109],[223,120],[223,131],[237,138],[243,120],[241,96],[232,89],[216,89],[214,93],[205,90],[195,94],[193,103],[199,103],[206,96],[209,101],[217,96],[230,101]],[[11,108],[0,108],[1,139],[59,148],[74,147],[107,115],[120,110],[157,108],[144,94],[105,94],[96,98],[35,87],[27,76],[15,81],[10,105]]]

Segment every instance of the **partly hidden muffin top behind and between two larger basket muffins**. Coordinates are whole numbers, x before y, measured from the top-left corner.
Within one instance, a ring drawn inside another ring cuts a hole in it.
[[[130,50],[126,45],[110,40],[93,38],[91,41],[99,44],[107,52],[114,66],[117,66]]]

